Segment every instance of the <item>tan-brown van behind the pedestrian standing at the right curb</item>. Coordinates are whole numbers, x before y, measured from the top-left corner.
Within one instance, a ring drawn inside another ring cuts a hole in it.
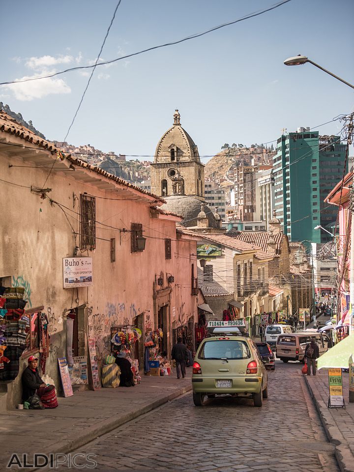
[[[330,339],[325,333],[306,331],[302,333],[292,333],[290,335],[282,334],[277,340],[276,356],[283,362],[299,360],[304,363],[306,344],[311,342],[312,338],[315,338],[316,344],[320,350],[320,355],[324,354],[328,350],[328,347],[331,346]]]

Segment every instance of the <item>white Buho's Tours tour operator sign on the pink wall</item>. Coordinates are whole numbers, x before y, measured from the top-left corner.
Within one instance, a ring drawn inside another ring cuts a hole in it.
[[[63,258],[63,288],[73,289],[92,285],[91,257]]]

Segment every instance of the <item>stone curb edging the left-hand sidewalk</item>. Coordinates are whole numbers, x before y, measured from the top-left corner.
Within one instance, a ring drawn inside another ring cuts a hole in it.
[[[85,446],[89,442],[97,439],[100,436],[103,436],[106,433],[110,433],[111,431],[127,423],[128,421],[131,421],[132,419],[135,419],[138,416],[141,416],[142,414],[148,413],[151,410],[154,410],[155,408],[158,408],[161,405],[164,405],[165,403],[174,400],[175,398],[179,397],[180,395],[183,395],[184,393],[189,392],[190,390],[192,390],[191,384],[182,388],[178,388],[169,395],[158,398],[154,402],[148,403],[148,405],[138,408],[133,412],[127,413],[125,415],[117,415],[118,417],[107,419],[105,421],[102,421],[98,425],[89,426],[83,433],[75,434],[75,438],[66,442],[60,442],[60,445],[58,447],[54,446],[53,448],[51,448],[51,450],[43,451],[43,454],[68,454],[69,452],[72,452],[78,449],[79,447]],[[43,468],[37,467],[28,469],[29,472],[39,470],[43,471]]]

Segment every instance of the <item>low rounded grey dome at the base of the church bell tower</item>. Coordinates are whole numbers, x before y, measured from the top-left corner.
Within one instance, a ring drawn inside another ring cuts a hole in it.
[[[198,225],[198,217],[200,218],[199,215],[201,213],[200,200],[189,195],[171,195],[170,197],[164,197],[164,199],[166,200],[166,204],[160,208],[181,215],[183,218],[183,221],[180,223],[181,225],[187,228]],[[205,204],[203,212],[208,219],[208,227],[218,228],[213,212]]]

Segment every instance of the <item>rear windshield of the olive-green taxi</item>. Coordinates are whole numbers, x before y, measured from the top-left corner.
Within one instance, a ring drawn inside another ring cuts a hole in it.
[[[198,355],[200,359],[248,359],[251,352],[244,341],[206,341]]]

